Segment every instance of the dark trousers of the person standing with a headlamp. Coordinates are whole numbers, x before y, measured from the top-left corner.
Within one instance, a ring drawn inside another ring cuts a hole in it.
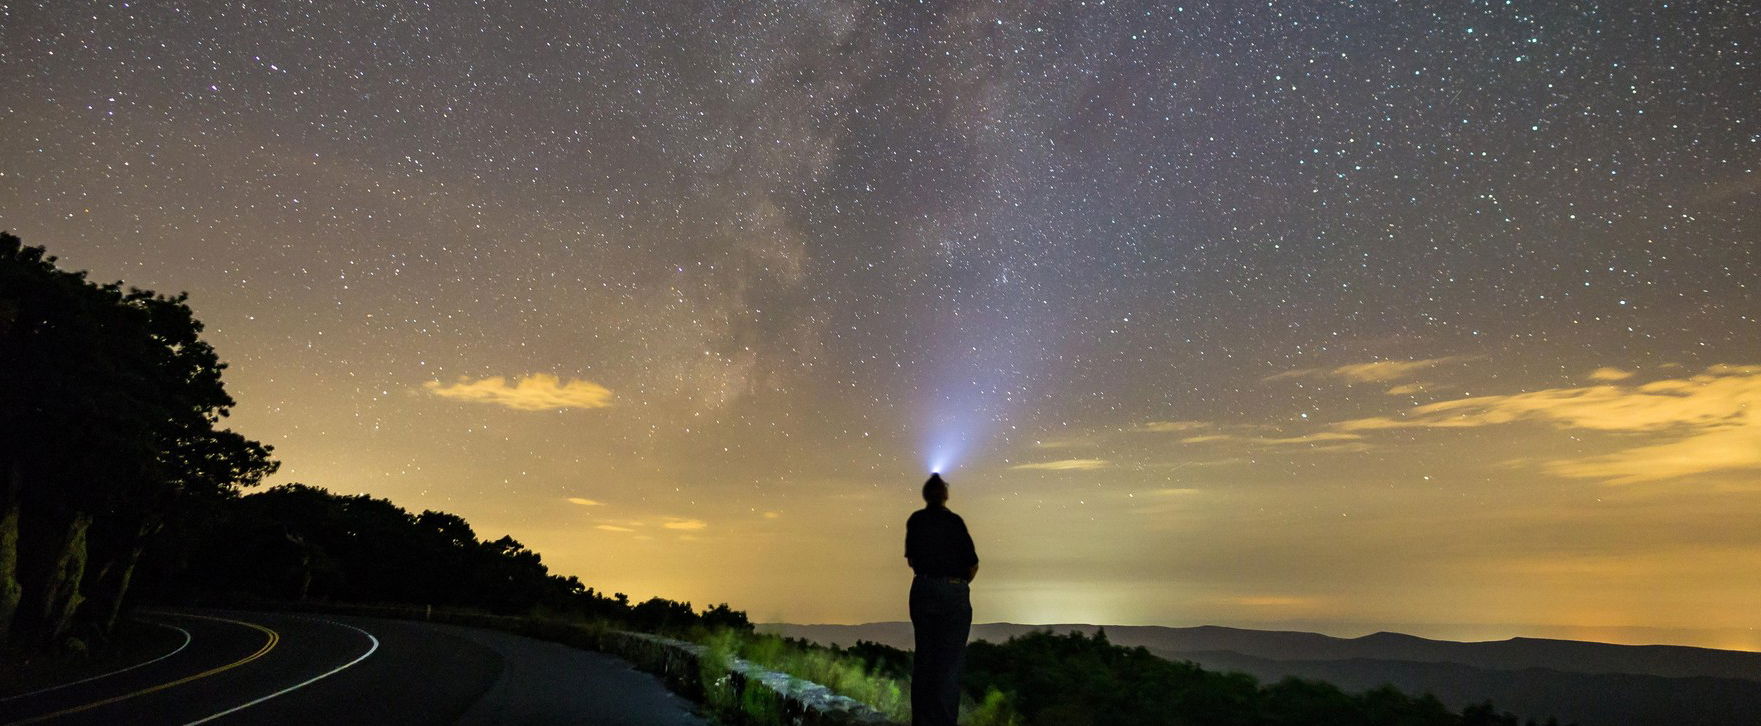
[[[910,582],[910,627],[917,654],[910,663],[910,722],[954,726],[960,717],[960,666],[967,659],[972,601],[967,583],[947,578]]]

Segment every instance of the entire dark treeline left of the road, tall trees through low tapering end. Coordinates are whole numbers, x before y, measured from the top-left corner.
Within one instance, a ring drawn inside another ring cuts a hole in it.
[[[456,515],[301,485],[241,497],[276,462],[222,426],[225,363],[187,296],[55,263],[0,233],[0,650],[102,643],[143,589],[750,629],[727,604],[595,592]]]

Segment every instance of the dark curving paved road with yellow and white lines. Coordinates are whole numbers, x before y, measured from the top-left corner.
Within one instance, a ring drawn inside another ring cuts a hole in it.
[[[143,619],[180,631],[178,647],[0,700],[0,724],[706,724],[623,661],[507,633],[206,610]]]

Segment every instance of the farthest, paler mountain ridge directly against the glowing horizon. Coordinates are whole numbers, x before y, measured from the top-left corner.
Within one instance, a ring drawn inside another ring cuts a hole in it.
[[[872,640],[898,648],[912,647],[909,622],[868,622],[861,626],[761,624],[757,627],[766,633],[780,633],[821,643],[849,645],[858,640]],[[1548,668],[1566,673],[1632,673],[1666,678],[1710,677],[1761,682],[1761,654],[1689,645],[1613,645],[1550,638],[1462,643],[1402,633],[1335,638],[1319,633],[1254,631],[1222,626],[1025,626],[1014,622],[976,624],[972,626],[972,640],[1004,641],[1023,633],[1044,629],[1088,634],[1101,627],[1106,627],[1108,640],[1113,643],[1141,645],[1169,659],[1190,659],[1189,654],[1201,652],[1233,652],[1271,661],[1375,659],[1456,663],[1490,670]]]

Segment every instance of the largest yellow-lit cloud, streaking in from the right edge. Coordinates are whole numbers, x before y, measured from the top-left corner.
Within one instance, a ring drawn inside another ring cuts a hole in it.
[[[1699,375],[1639,386],[1550,388],[1446,400],[1418,405],[1396,418],[1361,418],[1333,428],[1477,428],[1516,421],[1654,435],[1654,442],[1611,455],[1544,465],[1569,478],[1639,483],[1761,469],[1761,365],[1713,365]],[[1655,437],[1666,441],[1655,442]]]

